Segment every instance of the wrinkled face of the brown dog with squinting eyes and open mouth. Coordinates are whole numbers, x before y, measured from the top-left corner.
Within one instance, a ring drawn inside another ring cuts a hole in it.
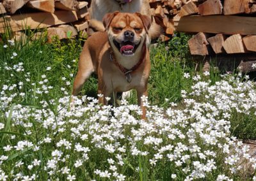
[[[105,24],[111,47],[124,56],[132,56],[136,54],[136,50],[141,49],[139,47],[142,47],[147,37],[150,18],[140,13],[115,13],[109,17],[112,19],[108,19],[108,27]]]

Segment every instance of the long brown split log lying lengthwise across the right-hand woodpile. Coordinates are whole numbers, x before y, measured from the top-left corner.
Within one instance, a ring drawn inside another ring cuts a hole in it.
[[[255,17],[238,16],[191,16],[173,18],[175,30],[187,33],[256,34]],[[243,28],[242,28],[243,27]]]

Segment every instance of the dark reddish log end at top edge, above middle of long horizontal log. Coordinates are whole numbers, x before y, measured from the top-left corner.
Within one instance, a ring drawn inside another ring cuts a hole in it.
[[[207,0],[198,6],[199,15],[221,15],[222,4],[220,0]]]

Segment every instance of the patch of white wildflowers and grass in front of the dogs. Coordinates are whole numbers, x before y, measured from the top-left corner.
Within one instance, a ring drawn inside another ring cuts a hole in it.
[[[232,120],[256,118],[247,76],[211,82],[184,72],[192,85],[182,100],[161,107],[144,97],[141,120],[127,100],[103,106],[82,95],[70,104],[74,74],[56,88],[51,66],[33,82],[19,53],[10,59],[0,68],[10,75],[0,80],[0,180],[256,180],[255,156],[232,134]]]

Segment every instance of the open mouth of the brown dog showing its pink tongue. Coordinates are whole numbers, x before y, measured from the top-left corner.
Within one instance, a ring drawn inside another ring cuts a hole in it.
[[[118,43],[116,40],[114,40],[113,42],[114,42],[116,48],[118,50],[120,50],[120,53],[125,56],[134,55],[136,48],[138,47],[138,45],[140,45],[140,43],[138,43],[138,45],[135,45],[131,41],[124,41],[122,43]]]

